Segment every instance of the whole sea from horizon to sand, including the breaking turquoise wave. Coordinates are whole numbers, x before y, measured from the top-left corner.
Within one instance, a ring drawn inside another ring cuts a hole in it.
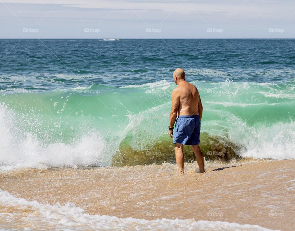
[[[0,40],[0,162],[174,162],[172,73],[204,107],[208,159],[291,159],[295,40]],[[193,158],[186,149],[187,161]]]

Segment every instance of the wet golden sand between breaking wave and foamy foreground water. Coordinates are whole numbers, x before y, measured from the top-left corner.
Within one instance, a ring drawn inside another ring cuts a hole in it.
[[[295,229],[295,160],[205,164],[206,173],[195,174],[196,163],[186,163],[184,175],[170,164],[21,169],[0,174],[0,188],[28,201],[72,202],[89,214]]]

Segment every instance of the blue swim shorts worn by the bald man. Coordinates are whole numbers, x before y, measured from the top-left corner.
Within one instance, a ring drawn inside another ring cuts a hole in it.
[[[197,145],[200,143],[200,131],[199,115],[180,115],[175,123],[173,143]]]

